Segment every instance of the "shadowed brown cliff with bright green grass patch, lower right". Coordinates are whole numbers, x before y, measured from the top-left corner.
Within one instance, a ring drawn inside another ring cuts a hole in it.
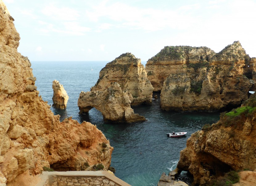
[[[222,113],[217,123],[191,135],[180,152],[178,170],[189,171],[194,183],[201,185],[230,170],[255,170],[255,118],[256,96],[252,95],[242,107]]]

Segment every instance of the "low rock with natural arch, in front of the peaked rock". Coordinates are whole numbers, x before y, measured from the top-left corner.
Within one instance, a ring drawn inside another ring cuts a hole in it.
[[[133,123],[146,119],[134,114],[130,107],[132,94],[129,90],[122,91],[118,83],[110,83],[110,87],[104,91],[81,92],[77,105],[80,113],[88,113],[95,107],[101,111],[105,122]]]

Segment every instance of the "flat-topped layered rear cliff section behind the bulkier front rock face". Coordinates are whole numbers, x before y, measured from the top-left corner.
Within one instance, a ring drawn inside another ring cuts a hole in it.
[[[186,73],[188,64],[205,63],[215,54],[207,47],[165,46],[147,61],[146,71],[154,91],[161,91],[170,74]]]

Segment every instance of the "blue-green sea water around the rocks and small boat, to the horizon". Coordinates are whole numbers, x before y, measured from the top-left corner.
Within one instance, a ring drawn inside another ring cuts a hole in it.
[[[177,113],[161,111],[160,100],[151,106],[133,107],[134,112],[143,115],[147,121],[134,124],[104,123],[100,111],[95,108],[89,114],[78,114],[77,100],[81,91],[90,91],[99,77],[100,70],[108,62],[31,62],[35,85],[44,101],[52,104],[52,81],[58,80],[67,91],[67,109],[51,107],[60,120],[72,116],[78,122],[88,121],[97,125],[114,147],[111,166],[115,175],[132,186],[157,185],[163,172],[176,168],[180,151],[195,131],[206,123],[219,120],[219,113]],[[143,63],[143,62],[142,62]],[[145,65],[146,62],[143,64]],[[93,69],[93,70],[91,70]],[[154,94],[155,95],[155,94]],[[158,95],[160,97],[160,95]],[[186,131],[181,138],[168,138],[166,133]]]

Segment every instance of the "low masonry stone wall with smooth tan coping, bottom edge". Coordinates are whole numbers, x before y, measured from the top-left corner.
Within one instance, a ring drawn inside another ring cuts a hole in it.
[[[37,186],[131,186],[107,171],[42,172]]]

